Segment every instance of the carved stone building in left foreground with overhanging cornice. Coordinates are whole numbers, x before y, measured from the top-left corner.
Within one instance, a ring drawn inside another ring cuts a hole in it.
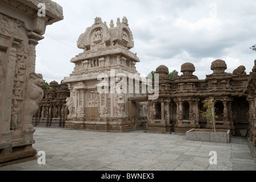
[[[46,15],[38,16],[38,3]],[[63,19],[52,1],[0,1],[0,166],[35,159],[33,114],[42,100],[35,46],[46,26]]]

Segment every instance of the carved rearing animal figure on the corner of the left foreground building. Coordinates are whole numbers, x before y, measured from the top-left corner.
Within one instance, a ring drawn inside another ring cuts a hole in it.
[[[33,129],[32,117],[38,110],[38,104],[43,98],[42,84],[45,82],[41,74],[30,73],[27,81],[27,94],[24,101],[24,122],[25,129]]]

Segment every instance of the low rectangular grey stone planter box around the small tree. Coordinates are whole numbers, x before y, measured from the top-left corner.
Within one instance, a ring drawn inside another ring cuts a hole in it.
[[[186,132],[186,140],[200,142],[230,143],[230,130],[191,129]]]

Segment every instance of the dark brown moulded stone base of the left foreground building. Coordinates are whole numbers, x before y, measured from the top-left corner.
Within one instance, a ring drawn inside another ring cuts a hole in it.
[[[32,144],[19,146],[21,143],[24,143],[24,141],[13,142],[8,146],[0,144],[0,167],[37,159],[37,156],[35,156],[37,151],[32,147]],[[31,141],[26,141],[26,143],[31,143]]]

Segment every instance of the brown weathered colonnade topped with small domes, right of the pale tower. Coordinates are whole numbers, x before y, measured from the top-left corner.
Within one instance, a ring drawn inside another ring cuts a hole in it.
[[[147,131],[157,133],[185,133],[191,129],[211,129],[210,121],[201,115],[204,110],[202,101],[215,102],[217,129],[231,130],[239,137],[255,135],[255,80],[254,72],[246,75],[245,67],[240,66],[233,73],[226,73],[227,65],[223,60],[211,64],[212,74],[205,80],[193,75],[192,63],[181,65],[182,76],[167,78],[169,69],[161,65],[156,69],[159,74],[159,97],[148,100]],[[249,79],[249,82],[248,82]],[[247,92],[245,92],[247,88]],[[150,95],[150,94],[148,94]],[[136,102],[136,97],[129,98]],[[255,141],[253,142],[255,146]]]

